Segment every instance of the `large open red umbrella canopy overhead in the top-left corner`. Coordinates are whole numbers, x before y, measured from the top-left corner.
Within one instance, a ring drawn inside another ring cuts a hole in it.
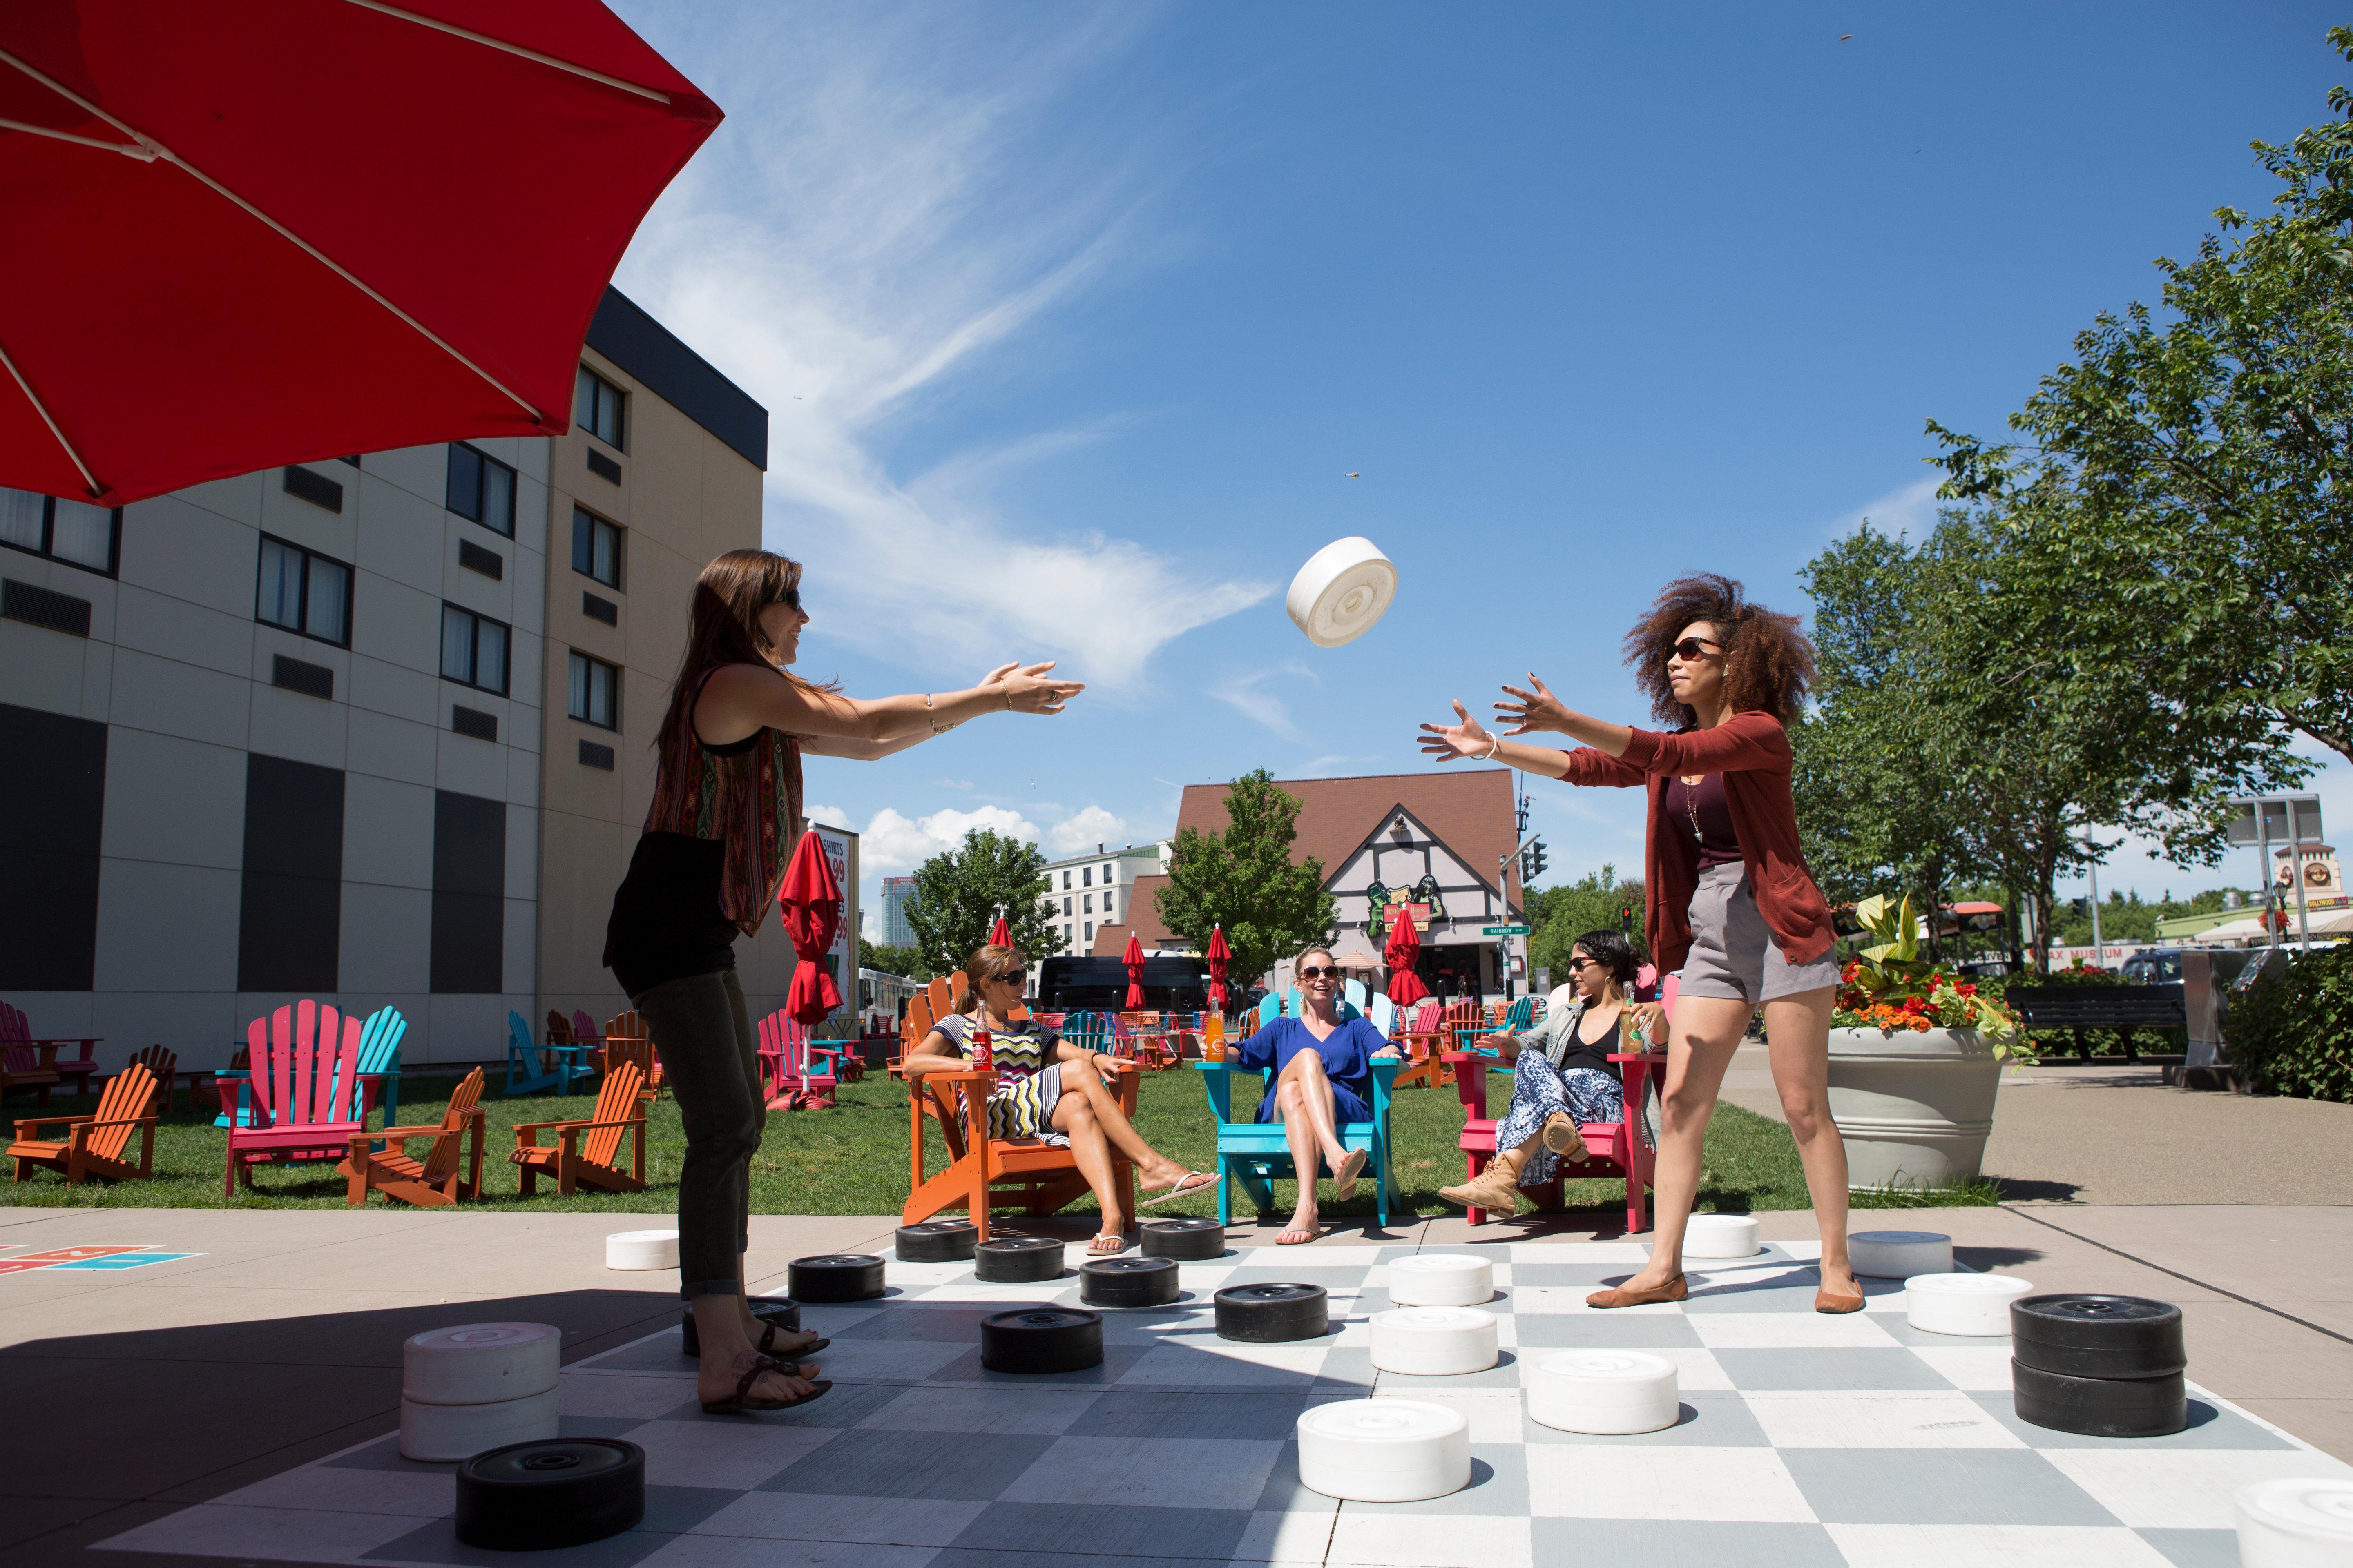
[[[9,0],[0,484],[120,505],[567,430],[718,122],[595,0]]]

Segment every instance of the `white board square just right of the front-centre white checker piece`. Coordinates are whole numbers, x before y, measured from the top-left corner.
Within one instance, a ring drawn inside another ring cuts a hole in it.
[[[1553,1519],[1814,1521],[1772,1448],[1529,1443],[1527,1495]]]

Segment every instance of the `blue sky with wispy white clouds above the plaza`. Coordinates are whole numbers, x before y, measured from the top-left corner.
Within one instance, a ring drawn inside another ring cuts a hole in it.
[[[1066,853],[1252,766],[1419,771],[1529,668],[1645,722],[1664,578],[1809,609],[1859,517],[1932,517],[1922,418],[1998,430],[2348,75],[2287,2],[616,9],[727,108],[619,282],[772,411],[802,672],[1094,682],[812,759],[868,907],[965,825]],[[1282,590],[1346,534],[1398,602],[1315,649]],[[1529,795],[1555,879],[1640,865],[1633,792]]]

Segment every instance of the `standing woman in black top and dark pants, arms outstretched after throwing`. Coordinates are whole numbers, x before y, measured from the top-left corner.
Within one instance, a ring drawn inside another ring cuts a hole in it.
[[[680,1295],[701,1340],[704,1410],[784,1410],[831,1385],[814,1333],[779,1333],[744,1300],[751,1157],[767,1105],[734,938],[776,900],[800,839],[800,759],[875,759],[991,712],[1061,712],[1082,691],[1052,663],[1000,665],[965,691],[859,701],[793,675],[800,562],[729,550],[694,581],[687,654],[656,738],[659,771],[628,877],[612,898],[605,966],[645,1018],[678,1095]]]

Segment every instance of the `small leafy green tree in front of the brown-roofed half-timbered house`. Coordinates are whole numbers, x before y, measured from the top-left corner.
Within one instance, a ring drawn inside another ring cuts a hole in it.
[[[1226,832],[1176,832],[1160,924],[1195,952],[1207,950],[1212,926],[1224,926],[1233,950],[1226,973],[1242,987],[1275,959],[1332,940],[1339,900],[1322,886],[1322,860],[1292,863],[1297,837],[1299,797],[1278,790],[1266,769],[1242,773],[1226,790]]]

